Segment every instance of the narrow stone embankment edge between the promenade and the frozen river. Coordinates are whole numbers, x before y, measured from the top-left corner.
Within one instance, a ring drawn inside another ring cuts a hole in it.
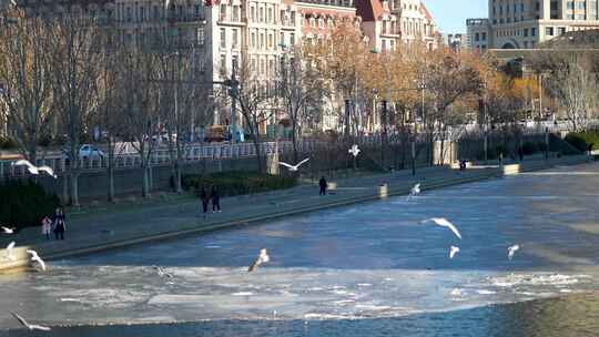
[[[483,173],[474,175],[474,176],[456,177],[456,178],[440,178],[440,181],[435,181],[434,178],[432,178],[429,182],[427,181],[422,182],[420,188],[423,191],[429,191],[429,190],[443,188],[443,187],[455,186],[455,185],[460,185],[460,184],[466,184],[466,183],[485,181],[489,178],[498,178],[502,176],[517,175],[524,172],[547,170],[547,168],[551,168],[558,165],[577,165],[577,164],[585,164],[588,162],[589,162],[588,159],[575,157],[575,159],[567,159],[559,162],[534,163],[530,166],[526,165],[526,163],[525,165],[511,164],[511,165],[504,166],[502,170],[501,168],[484,168],[485,171]],[[512,170],[510,167],[512,167],[514,165],[518,166],[517,172],[510,173],[510,170]],[[132,238],[122,239],[122,241],[114,241],[114,242],[109,242],[104,244],[92,245],[84,248],[65,249],[65,251],[59,251],[59,252],[48,253],[48,254],[43,254],[43,251],[40,251],[40,254],[43,256],[45,261],[72,257],[72,256],[78,256],[78,255],[87,255],[87,254],[98,253],[102,251],[123,248],[126,246],[155,242],[160,239],[173,239],[173,238],[182,237],[190,234],[197,235],[202,233],[209,233],[209,232],[214,232],[214,231],[224,229],[224,228],[233,228],[236,226],[251,225],[257,222],[272,221],[272,219],[276,219],[281,217],[294,216],[298,214],[328,210],[328,208],[334,208],[338,206],[347,206],[347,205],[353,205],[353,204],[357,204],[362,202],[372,202],[372,201],[377,201],[382,198],[388,198],[392,196],[407,195],[410,192],[410,187],[398,187],[398,188],[393,188],[393,186],[390,187],[392,188],[388,190],[387,196],[378,195],[377,190],[373,188],[375,193],[368,192],[368,194],[365,194],[365,195],[342,198],[342,200],[328,202],[325,204],[300,206],[293,210],[273,212],[270,214],[251,216],[251,217],[234,219],[234,221],[224,221],[220,223],[209,224],[205,226],[200,225],[200,226],[194,226],[191,228],[184,228],[180,231],[171,231],[171,232],[165,232],[165,233],[142,235],[139,237],[132,237]],[[26,267],[29,265],[29,259],[27,257],[27,254],[24,254],[24,247],[19,247],[19,248],[23,249],[23,252],[16,252],[18,253],[17,254],[18,259],[16,262],[0,263],[0,272],[12,269],[12,268]],[[3,249],[0,249],[0,252],[2,251]]]

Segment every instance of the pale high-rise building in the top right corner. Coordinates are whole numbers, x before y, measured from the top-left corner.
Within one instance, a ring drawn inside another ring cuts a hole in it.
[[[488,19],[466,21],[471,49],[534,49],[566,32],[599,28],[597,0],[489,0],[488,3]]]

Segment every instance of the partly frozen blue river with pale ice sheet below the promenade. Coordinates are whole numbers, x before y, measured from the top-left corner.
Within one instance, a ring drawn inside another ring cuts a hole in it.
[[[599,166],[562,167],[0,275],[0,336],[593,336],[598,263]]]

